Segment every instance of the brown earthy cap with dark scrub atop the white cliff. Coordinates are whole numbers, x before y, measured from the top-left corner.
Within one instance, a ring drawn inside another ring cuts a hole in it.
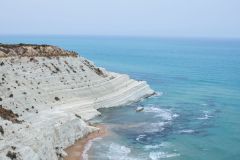
[[[56,57],[71,56],[77,57],[73,51],[63,50],[51,45],[38,44],[2,44],[0,43],[0,58],[4,57]]]

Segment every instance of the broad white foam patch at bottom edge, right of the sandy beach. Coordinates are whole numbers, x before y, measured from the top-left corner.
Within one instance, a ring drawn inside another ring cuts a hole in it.
[[[136,158],[130,157],[130,153],[130,148],[116,143],[112,143],[109,146],[107,157],[109,160],[137,160]]]

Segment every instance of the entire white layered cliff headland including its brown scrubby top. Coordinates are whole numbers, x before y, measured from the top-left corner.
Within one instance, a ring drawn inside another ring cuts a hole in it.
[[[97,130],[97,109],[154,93],[144,81],[49,45],[0,44],[0,159],[57,160]]]

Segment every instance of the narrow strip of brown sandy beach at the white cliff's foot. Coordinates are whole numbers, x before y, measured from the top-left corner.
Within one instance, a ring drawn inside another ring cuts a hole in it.
[[[64,160],[82,160],[84,146],[92,139],[95,139],[97,137],[104,137],[107,135],[107,129],[105,126],[97,125],[96,127],[100,130],[90,133],[86,137],[76,141],[74,145],[65,149],[68,156],[65,157]]]

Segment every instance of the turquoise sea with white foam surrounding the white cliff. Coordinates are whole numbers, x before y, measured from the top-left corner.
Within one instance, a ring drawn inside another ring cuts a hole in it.
[[[111,134],[88,151],[95,160],[239,160],[240,41],[116,37],[0,37],[49,43],[97,65],[146,80],[159,93],[95,119]],[[145,107],[140,113],[138,106]]]

